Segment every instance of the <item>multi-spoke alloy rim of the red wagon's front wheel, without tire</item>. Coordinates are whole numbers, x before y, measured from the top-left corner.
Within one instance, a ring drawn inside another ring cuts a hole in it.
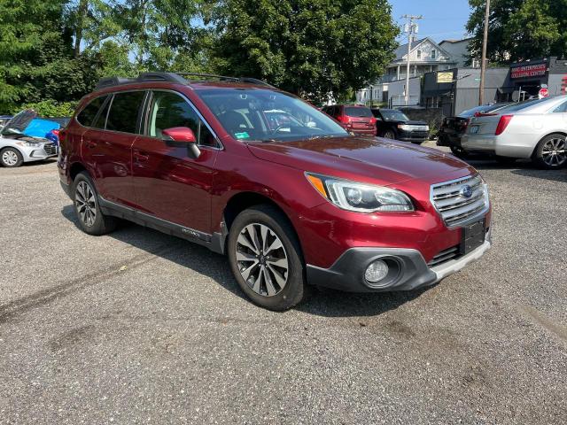
[[[237,267],[250,288],[264,297],[279,294],[289,276],[289,261],[281,239],[260,223],[249,224],[238,235]]]

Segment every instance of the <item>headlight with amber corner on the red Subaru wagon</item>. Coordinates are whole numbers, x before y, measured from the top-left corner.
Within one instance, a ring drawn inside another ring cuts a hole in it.
[[[414,211],[408,195],[400,190],[338,180],[306,173],[307,180],[334,205],[357,213]]]

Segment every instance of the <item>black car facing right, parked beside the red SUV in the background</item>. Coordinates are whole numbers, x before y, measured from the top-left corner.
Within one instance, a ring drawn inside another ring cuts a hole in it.
[[[412,121],[397,109],[373,109],[377,119],[377,135],[386,139],[422,144],[429,138],[425,121]]]

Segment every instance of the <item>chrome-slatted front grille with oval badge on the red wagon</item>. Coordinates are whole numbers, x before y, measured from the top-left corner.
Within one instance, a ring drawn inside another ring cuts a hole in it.
[[[465,193],[470,187],[470,197]],[[480,218],[488,209],[488,195],[480,175],[471,175],[431,186],[431,203],[445,224],[454,228],[468,220]]]

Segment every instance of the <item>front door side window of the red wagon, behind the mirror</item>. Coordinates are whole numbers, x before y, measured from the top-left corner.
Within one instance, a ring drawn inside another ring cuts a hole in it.
[[[160,138],[161,130],[174,127],[187,127],[193,130],[198,144],[202,146],[216,146],[214,135],[183,97],[167,91],[153,92],[148,135]]]

